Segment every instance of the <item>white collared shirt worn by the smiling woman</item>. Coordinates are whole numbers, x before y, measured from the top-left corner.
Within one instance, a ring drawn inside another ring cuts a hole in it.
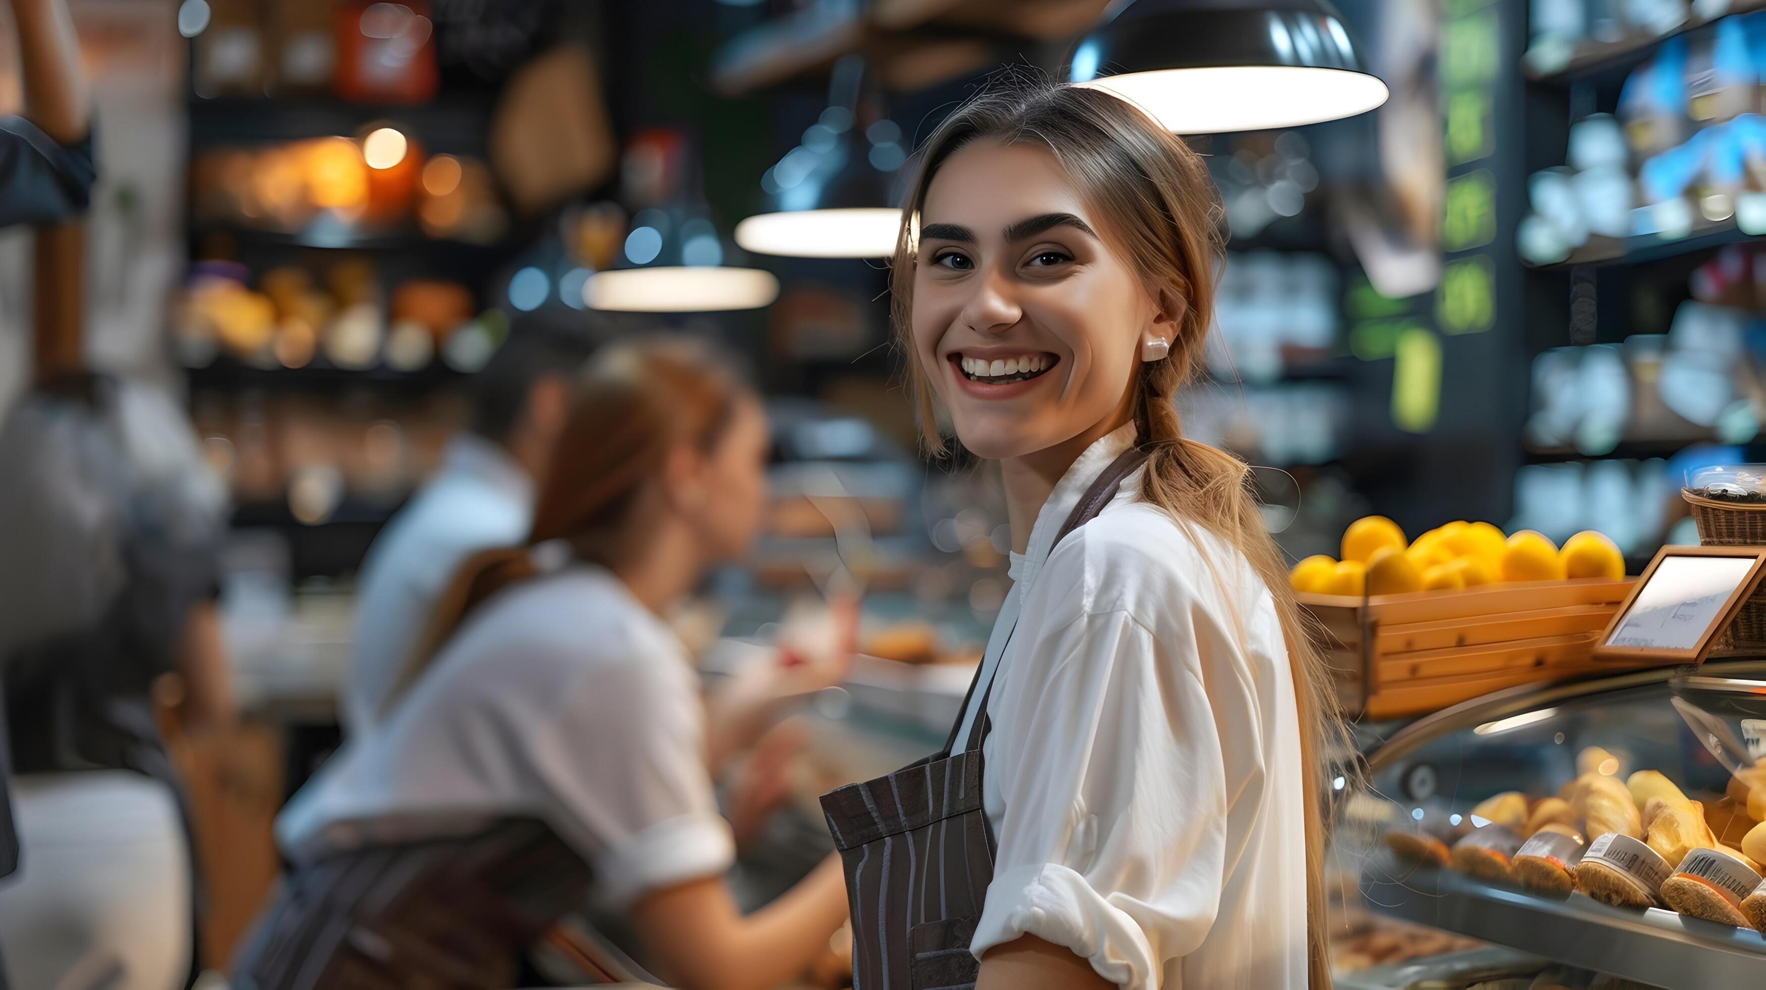
[[[1128,988],[1303,988],[1307,788],[1268,587],[1139,502],[1141,470],[1051,555],[1132,442],[1086,449],[1012,559],[982,785],[1000,850],[970,948],[1037,935]]]

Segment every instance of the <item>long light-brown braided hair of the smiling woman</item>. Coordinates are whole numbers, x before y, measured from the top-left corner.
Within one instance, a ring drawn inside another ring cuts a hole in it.
[[[1171,292],[1187,302],[1171,354],[1141,364],[1132,384],[1139,442],[1151,449],[1141,499],[1167,511],[1178,525],[1199,527],[1241,553],[1275,598],[1287,638],[1300,716],[1300,762],[1309,785],[1303,808],[1310,985],[1328,988],[1324,796],[1330,790],[1323,753],[1346,746],[1347,730],[1337,712],[1324,661],[1287,585],[1280,548],[1270,539],[1252,495],[1250,468],[1226,451],[1185,438],[1173,401],[1178,387],[1199,375],[1203,343],[1213,322],[1215,272],[1224,253],[1213,180],[1194,148],[1134,104],[1104,90],[1008,80],[977,95],[927,138],[902,210],[890,295],[895,329],[908,354],[913,354],[915,230],[925,191],[945,159],[975,140],[1047,148],[1081,194],[1107,217],[1102,233],[1130,260],[1148,290]],[[925,442],[941,451],[925,373],[917,361],[908,364]],[[1210,560],[1210,566],[1215,562]]]

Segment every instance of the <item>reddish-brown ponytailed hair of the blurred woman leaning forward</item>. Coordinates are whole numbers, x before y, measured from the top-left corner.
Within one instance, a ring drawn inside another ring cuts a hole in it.
[[[547,460],[528,541],[473,553],[454,571],[394,681],[389,711],[473,608],[540,573],[535,546],[562,539],[572,557],[613,566],[625,546],[643,537],[630,534],[627,522],[669,451],[680,444],[715,447],[736,400],[747,394],[728,364],[691,341],[613,345],[590,362]]]

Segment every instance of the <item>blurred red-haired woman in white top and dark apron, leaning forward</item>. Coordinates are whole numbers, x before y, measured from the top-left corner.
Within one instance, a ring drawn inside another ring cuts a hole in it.
[[[708,727],[662,621],[747,552],[766,453],[759,400],[710,355],[615,346],[592,364],[526,544],[461,566],[387,718],[277,820],[293,870],[235,988],[510,986],[574,903],[622,918],[645,963],[694,990],[775,986],[828,955],[837,861],[745,918],[722,882],[713,737],[751,742],[765,705]],[[747,697],[828,677],[772,670]]]

